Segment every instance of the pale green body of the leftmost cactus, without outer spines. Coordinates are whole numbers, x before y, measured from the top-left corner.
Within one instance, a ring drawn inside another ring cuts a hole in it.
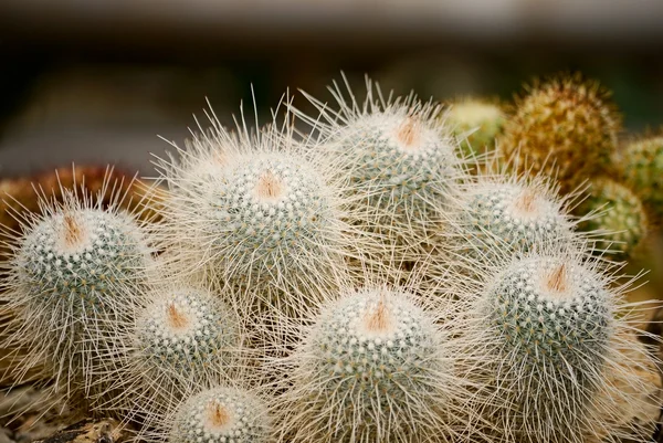
[[[64,214],[41,221],[25,236],[18,256],[20,288],[39,305],[34,309],[63,308],[64,298],[73,315],[114,315],[116,292],[145,277],[147,249],[133,220],[122,214],[82,209],[69,217],[78,224],[82,243],[64,244]]]

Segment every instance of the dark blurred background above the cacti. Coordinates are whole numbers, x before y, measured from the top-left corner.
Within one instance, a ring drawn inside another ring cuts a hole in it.
[[[580,70],[638,133],[663,124],[662,55],[661,0],[0,0],[0,175],[150,176],[157,135],[180,144],[206,97],[230,124],[253,85],[265,119],[341,70],[439,101]]]

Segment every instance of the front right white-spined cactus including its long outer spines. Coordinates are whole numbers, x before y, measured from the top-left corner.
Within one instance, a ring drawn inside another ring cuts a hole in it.
[[[486,278],[466,327],[467,351],[484,366],[469,377],[490,380],[484,392],[497,403],[486,402],[484,416],[498,434],[525,442],[617,435],[615,404],[640,401],[633,392],[645,383],[622,366],[630,345],[620,337],[632,326],[615,316],[620,295],[597,266],[552,250]]]

